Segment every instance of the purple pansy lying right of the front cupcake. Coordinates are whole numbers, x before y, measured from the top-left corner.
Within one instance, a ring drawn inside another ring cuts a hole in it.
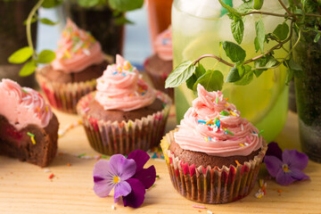
[[[271,177],[276,177],[279,185],[290,185],[296,180],[309,179],[309,176],[301,171],[307,167],[308,161],[306,154],[287,149],[282,152],[274,142],[268,144],[268,151],[264,158],[268,173]]]

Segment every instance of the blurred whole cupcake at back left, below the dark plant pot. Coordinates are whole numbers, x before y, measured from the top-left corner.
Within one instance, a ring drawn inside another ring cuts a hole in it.
[[[55,53],[51,64],[37,70],[37,81],[54,108],[76,113],[78,100],[95,90],[95,79],[109,63],[95,38],[70,19]]]

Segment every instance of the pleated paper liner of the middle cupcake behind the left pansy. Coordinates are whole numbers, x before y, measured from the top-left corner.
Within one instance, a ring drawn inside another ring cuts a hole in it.
[[[128,121],[105,121],[95,119],[86,114],[88,103],[95,99],[95,92],[80,99],[77,106],[82,117],[83,126],[90,145],[97,152],[111,155],[115,153],[128,154],[141,149],[148,151],[161,143],[166,122],[169,116],[171,99],[157,91],[157,99],[163,103],[163,109],[141,119]]]

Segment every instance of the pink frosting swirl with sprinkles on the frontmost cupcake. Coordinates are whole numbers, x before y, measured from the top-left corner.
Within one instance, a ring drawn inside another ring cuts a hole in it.
[[[185,150],[228,157],[249,155],[262,145],[262,136],[220,91],[208,92],[200,84],[193,107],[186,111],[175,141]]]

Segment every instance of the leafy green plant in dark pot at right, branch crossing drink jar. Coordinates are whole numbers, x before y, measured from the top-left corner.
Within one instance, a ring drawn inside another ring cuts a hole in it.
[[[243,4],[234,8],[226,1],[218,2],[228,12],[231,20],[231,30],[236,41],[221,41],[219,44],[222,54],[205,54],[193,61],[180,63],[166,80],[166,87],[180,86],[186,81],[188,88],[195,90],[201,83],[207,90],[221,90],[224,82],[235,85],[247,85],[253,78],[259,78],[265,70],[285,66],[285,84],[295,77],[297,91],[297,106],[300,119],[300,140],[303,152],[314,161],[321,161],[321,111],[319,95],[319,38],[321,20],[321,2],[317,0],[278,0],[283,12],[265,12],[260,8],[264,0],[243,0]],[[253,40],[257,55],[246,58],[246,52],[240,46],[244,35],[244,19],[253,14],[259,16],[282,17],[284,21],[276,26],[272,32],[266,32],[261,17],[255,22],[255,38]],[[275,45],[267,44],[274,42]],[[287,48],[285,44],[292,41]],[[276,57],[276,50],[284,49],[284,57]],[[219,52],[221,53],[221,52]],[[294,57],[293,57],[294,56]],[[230,67],[224,78],[219,69],[205,70],[202,59],[212,58],[218,63]],[[294,59],[294,60],[293,60]],[[308,63],[307,63],[308,62]],[[308,107],[309,106],[309,107]]]

